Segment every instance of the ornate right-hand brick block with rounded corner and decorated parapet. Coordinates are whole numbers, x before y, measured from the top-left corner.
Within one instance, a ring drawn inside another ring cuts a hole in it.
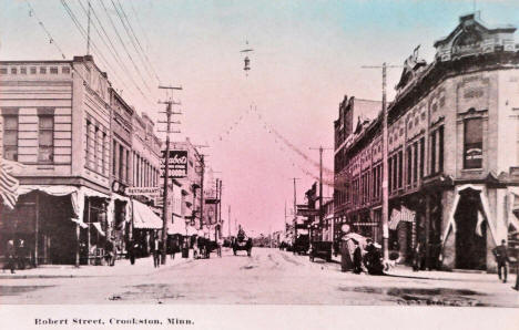
[[[495,271],[492,248],[519,229],[515,31],[488,27],[478,13],[464,16],[435,42],[432,63],[416,52],[405,61],[388,106],[387,164],[390,249],[403,260],[420,245],[425,268]],[[365,234],[381,241],[381,116],[346,130],[340,143],[340,121],[352,117],[342,106],[335,124],[335,217],[374,223]]]

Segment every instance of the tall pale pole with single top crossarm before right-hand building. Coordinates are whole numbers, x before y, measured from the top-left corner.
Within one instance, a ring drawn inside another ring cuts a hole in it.
[[[389,227],[388,227],[388,217],[389,217],[389,171],[387,166],[387,153],[388,153],[388,143],[387,143],[387,105],[386,105],[386,75],[387,68],[401,68],[401,65],[387,65],[384,62],[380,65],[369,65],[363,66],[363,69],[381,69],[383,73],[383,214],[381,214],[381,227],[383,227],[383,249],[384,249],[384,260],[389,260]]]

